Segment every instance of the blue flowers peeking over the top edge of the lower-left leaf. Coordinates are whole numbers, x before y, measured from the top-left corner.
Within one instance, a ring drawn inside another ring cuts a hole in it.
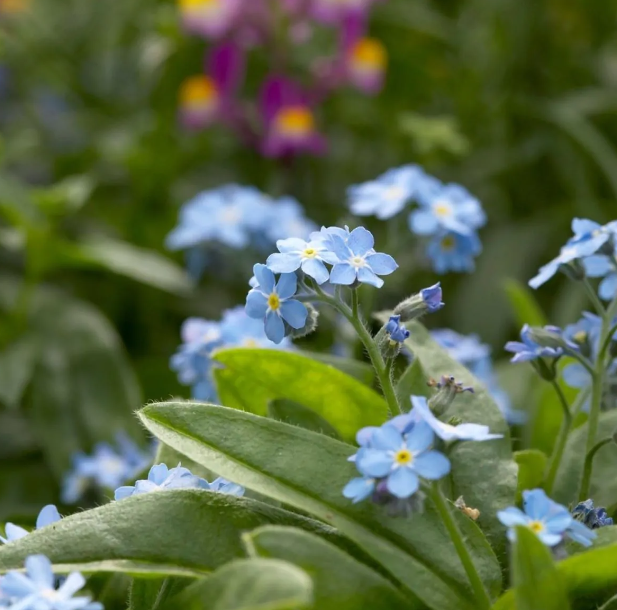
[[[180,465],[168,468],[166,464],[156,464],[150,468],[147,479],[136,481],[135,485],[119,487],[114,497],[116,500],[123,500],[130,496],[166,489],[205,489],[232,496],[244,495],[244,487],[221,477],[208,483],[206,479],[194,475],[188,468]]]

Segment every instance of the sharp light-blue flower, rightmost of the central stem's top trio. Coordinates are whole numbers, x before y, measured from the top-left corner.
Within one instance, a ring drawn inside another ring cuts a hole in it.
[[[376,288],[383,286],[378,275],[389,275],[398,268],[389,254],[375,252],[375,240],[364,227],[354,229],[347,243],[338,235],[332,235],[332,251],[339,262],[330,272],[330,283],[349,286],[355,281],[371,284]]]

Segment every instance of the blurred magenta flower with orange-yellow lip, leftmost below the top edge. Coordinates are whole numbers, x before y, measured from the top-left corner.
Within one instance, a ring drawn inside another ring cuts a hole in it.
[[[180,120],[203,129],[235,114],[234,96],[244,76],[244,53],[233,43],[212,49],[207,74],[187,78],[180,88]]]

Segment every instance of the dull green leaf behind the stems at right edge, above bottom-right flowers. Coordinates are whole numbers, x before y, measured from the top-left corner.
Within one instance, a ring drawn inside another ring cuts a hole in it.
[[[617,428],[617,411],[600,415],[598,430],[603,436],[610,436]],[[598,440],[600,440],[599,437]],[[553,499],[566,506],[577,500],[577,492],[585,462],[585,444],[587,441],[587,424],[576,428],[568,437],[564,456],[561,461]],[[602,447],[593,460],[593,474],[589,496],[596,506],[611,506],[617,502],[617,445],[608,443]]]

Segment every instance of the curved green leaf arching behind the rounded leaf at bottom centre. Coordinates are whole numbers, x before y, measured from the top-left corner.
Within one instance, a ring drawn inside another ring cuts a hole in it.
[[[243,539],[250,553],[284,559],[310,574],[320,610],[409,607],[390,581],[317,536],[292,527],[264,526]]]

